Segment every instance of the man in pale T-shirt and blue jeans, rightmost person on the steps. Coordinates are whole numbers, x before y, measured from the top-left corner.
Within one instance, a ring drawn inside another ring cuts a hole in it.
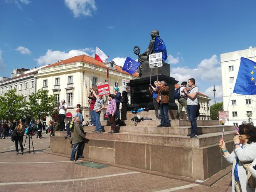
[[[191,88],[189,92],[187,92],[187,89],[184,89],[184,92],[187,96],[187,111],[189,113],[189,119],[191,123],[191,134],[189,134],[188,136],[190,136],[191,138],[196,138],[198,137],[198,135],[197,135],[197,121],[195,119],[196,118],[195,116],[197,114],[199,89],[197,88],[197,86],[195,86],[194,78],[189,79],[187,83]]]

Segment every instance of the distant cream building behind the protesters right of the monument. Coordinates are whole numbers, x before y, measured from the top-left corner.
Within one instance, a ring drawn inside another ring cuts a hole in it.
[[[177,88],[179,88],[180,85],[179,84],[175,84],[175,90]],[[189,90],[189,88],[187,88],[187,90]],[[211,99],[203,94],[199,92],[199,104],[200,104],[200,115],[199,117],[197,117],[197,120],[211,120],[211,113],[210,113],[210,104],[209,102],[211,101]],[[179,102],[177,99],[175,99],[175,103],[177,104],[178,108],[179,108]],[[185,111],[185,108],[182,108],[182,111]]]

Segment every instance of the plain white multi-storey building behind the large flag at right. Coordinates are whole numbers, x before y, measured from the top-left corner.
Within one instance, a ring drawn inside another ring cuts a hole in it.
[[[241,125],[247,121],[247,114],[252,115],[254,125],[256,123],[256,95],[231,94],[234,79],[236,79],[240,57],[256,61],[256,48],[234,51],[221,54],[221,77],[224,111],[228,108],[226,125]],[[255,87],[256,88],[256,87]],[[230,99],[229,99],[230,98]],[[229,101],[230,100],[230,101]]]

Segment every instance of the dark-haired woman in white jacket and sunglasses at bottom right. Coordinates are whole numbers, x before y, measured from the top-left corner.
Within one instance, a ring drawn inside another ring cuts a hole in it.
[[[252,162],[256,158],[256,128],[253,125],[239,125],[239,131],[234,136],[234,150],[227,151],[224,140],[219,141],[219,147],[224,158],[233,163],[232,167],[232,192],[254,191],[246,184],[247,173],[243,164]]]

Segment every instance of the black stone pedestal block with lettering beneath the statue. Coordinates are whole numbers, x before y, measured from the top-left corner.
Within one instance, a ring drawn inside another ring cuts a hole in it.
[[[162,67],[159,67],[159,69]],[[155,68],[154,68],[155,69]],[[153,69],[152,69],[153,71]],[[170,72],[170,69],[168,70]],[[157,80],[157,76],[154,75],[151,77],[151,84]],[[178,106],[175,104],[175,99],[173,97],[174,85],[178,83],[173,77],[160,74],[158,75],[158,81],[166,81],[167,86],[170,88],[169,91],[169,109],[178,110]],[[148,88],[150,84],[150,77],[143,77],[140,79],[133,79],[128,83],[131,87],[131,101],[128,111],[133,110],[134,108],[146,107],[154,110],[154,104],[152,95],[150,94]]]

